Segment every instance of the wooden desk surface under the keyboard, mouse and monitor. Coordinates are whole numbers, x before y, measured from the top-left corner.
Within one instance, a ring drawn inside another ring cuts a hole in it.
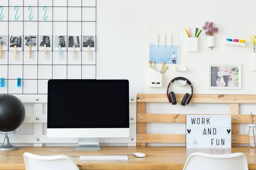
[[[19,150],[0,151],[0,170],[26,170],[23,153],[42,156],[67,155],[80,170],[182,170],[191,153],[204,152],[246,154],[249,170],[256,170],[256,149],[232,147],[231,149],[186,149],[186,147],[134,146],[102,147],[100,151],[75,151],[75,147],[20,147]],[[134,152],[145,153],[144,158],[132,156]],[[81,155],[127,155],[128,161],[79,161]]]

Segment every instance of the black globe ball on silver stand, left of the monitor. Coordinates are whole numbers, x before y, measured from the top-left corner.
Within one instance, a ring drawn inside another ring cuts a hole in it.
[[[16,130],[25,119],[25,107],[16,96],[0,95],[0,131]]]

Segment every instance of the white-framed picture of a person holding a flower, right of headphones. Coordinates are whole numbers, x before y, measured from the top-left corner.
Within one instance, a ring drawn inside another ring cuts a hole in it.
[[[210,65],[210,89],[241,89],[241,65]]]

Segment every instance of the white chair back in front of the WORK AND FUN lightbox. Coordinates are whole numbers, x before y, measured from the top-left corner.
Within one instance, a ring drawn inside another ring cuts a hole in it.
[[[214,155],[209,153],[192,153],[183,170],[248,170],[244,153]]]

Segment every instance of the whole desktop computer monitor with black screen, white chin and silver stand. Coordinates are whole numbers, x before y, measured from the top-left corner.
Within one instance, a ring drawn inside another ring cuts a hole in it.
[[[129,136],[128,80],[51,79],[47,97],[47,136],[79,138],[75,150]]]

